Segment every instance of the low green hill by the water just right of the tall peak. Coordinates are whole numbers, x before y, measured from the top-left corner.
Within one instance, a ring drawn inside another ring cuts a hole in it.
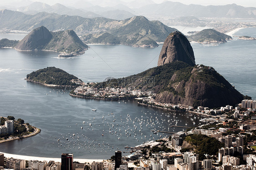
[[[232,37],[225,35],[213,29],[205,29],[196,33],[195,35],[188,36],[189,41],[196,41],[199,43],[225,43],[231,40]]]

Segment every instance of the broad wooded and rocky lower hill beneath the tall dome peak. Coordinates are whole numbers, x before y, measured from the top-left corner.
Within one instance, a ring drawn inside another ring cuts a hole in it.
[[[128,84],[130,80],[134,83]],[[218,108],[234,106],[243,100],[243,95],[212,67],[190,66],[183,61],[160,65],[118,79],[118,82],[126,87],[136,85],[142,90],[153,91],[156,93],[155,100],[162,103]]]

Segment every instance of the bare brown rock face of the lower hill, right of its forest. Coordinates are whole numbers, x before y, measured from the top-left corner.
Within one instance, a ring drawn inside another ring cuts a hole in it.
[[[213,68],[200,66],[190,69],[190,73],[174,72],[168,90],[159,90],[155,100],[210,108],[236,105],[243,100],[243,95]],[[189,77],[184,79],[185,75]]]

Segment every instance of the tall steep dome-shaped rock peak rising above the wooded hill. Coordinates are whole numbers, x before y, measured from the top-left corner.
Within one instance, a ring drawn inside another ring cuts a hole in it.
[[[164,41],[158,66],[173,61],[183,61],[191,66],[195,65],[194,51],[189,40],[179,31],[172,32]]]

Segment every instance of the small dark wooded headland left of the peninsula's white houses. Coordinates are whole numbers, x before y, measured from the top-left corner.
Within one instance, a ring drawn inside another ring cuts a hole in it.
[[[37,71],[33,71],[26,77],[27,81],[40,83],[46,86],[80,86],[82,80],[74,75],[68,74],[66,71],[56,67],[47,67]]]

